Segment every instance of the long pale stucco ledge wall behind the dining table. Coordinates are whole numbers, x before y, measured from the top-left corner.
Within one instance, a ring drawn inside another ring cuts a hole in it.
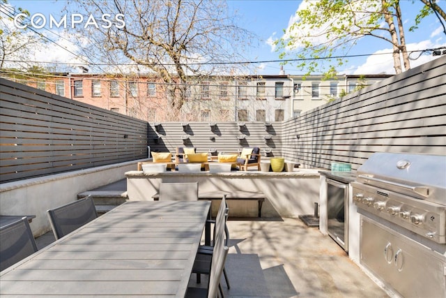
[[[125,172],[129,200],[153,200],[162,182],[199,183],[200,193],[255,192],[265,195],[262,217],[298,217],[312,213],[319,198],[318,170],[295,169],[293,172]],[[228,202],[233,217],[257,217],[256,201],[231,200]],[[217,205],[217,204],[215,204]]]

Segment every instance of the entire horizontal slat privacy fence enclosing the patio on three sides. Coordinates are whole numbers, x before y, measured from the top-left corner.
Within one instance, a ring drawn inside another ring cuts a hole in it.
[[[357,170],[374,152],[446,155],[446,57],[284,122],[148,124],[0,79],[1,181],[147,157],[261,147],[302,167]],[[264,160],[266,158],[262,158]]]

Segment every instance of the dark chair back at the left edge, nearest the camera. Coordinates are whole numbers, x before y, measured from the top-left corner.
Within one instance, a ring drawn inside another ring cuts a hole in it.
[[[0,271],[37,251],[26,216],[0,228],[0,239]]]

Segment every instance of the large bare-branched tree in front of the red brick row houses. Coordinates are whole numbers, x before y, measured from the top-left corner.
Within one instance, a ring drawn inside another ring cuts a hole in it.
[[[123,15],[125,26],[82,28],[89,38],[84,47],[93,61],[109,64],[106,72],[153,73],[167,95],[174,118],[185,103],[187,77],[227,74],[229,61],[243,59],[251,33],[234,24],[224,1],[75,1],[84,17]],[[70,6],[73,13],[73,7]]]

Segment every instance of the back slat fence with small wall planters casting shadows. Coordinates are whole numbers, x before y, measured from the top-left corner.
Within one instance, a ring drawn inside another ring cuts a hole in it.
[[[189,138],[183,141],[185,135]],[[239,142],[238,135],[245,135],[245,139]],[[270,136],[268,142],[264,138],[266,135]],[[282,122],[272,122],[270,126],[265,126],[263,122],[245,122],[241,130],[237,122],[216,122],[213,130],[203,122],[189,122],[184,129],[180,122],[167,122],[161,124],[159,131],[156,131],[155,124],[150,124],[148,132],[151,151],[172,153],[176,147],[182,146],[196,147],[197,152],[211,149],[226,153],[256,146],[260,147],[263,156],[279,156],[282,154],[281,142]]]

